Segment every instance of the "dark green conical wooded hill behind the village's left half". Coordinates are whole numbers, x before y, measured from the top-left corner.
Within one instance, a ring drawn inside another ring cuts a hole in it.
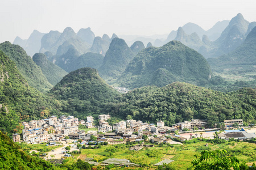
[[[64,100],[64,111],[80,114],[100,114],[107,103],[112,103],[119,93],[104,82],[96,69],[82,68],[72,71],[56,84],[49,94],[58,100]],[[69,106],[68,106],[69,105]]]

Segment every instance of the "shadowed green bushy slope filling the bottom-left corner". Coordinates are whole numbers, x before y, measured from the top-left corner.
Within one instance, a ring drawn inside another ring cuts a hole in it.
[[[53,169],[49,162],[20,151],[20,147],[1,131],[0,152],[0,169]]]

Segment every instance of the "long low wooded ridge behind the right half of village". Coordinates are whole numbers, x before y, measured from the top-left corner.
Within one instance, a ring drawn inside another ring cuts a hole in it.
[[[256,91],[243,88],[222,93],[188,83],[175,82],[165,87],[142,87],[125,94],[112,108],[122,118],[156,123],[163,120],[167,126],[191,120],[207,119],[209,126],[226,119],[242,118],[253,122],[256,118]],[[108,108],[108,107],[107,107]]]

